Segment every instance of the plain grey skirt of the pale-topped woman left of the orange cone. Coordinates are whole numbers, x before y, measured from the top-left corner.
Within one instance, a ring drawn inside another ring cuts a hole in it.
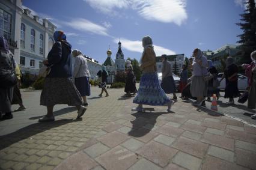
[[[207,82],[204,81],[203,76],[193,76],[190,92],[193,97],[207,95]]]

